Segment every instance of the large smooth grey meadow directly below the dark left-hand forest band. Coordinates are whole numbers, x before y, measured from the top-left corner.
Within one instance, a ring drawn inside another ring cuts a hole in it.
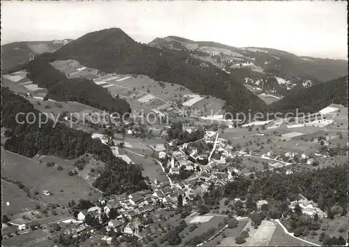
[[[1,165],[2,176],[20,181],[30,190],[36,190],[39,193],[38,199],[42,202],[66,207],[70,200],[80,198],[93,200],[99,196],[87,182],[76,176],[68,176],[65,170],[59,171],[54,167],[47,167],[44,163],[39,164],[24,156],[4,151],[2,148],[1,158],[3,162],[8,163]],[[43,190],[49,190],[53,195],[43,195]]]

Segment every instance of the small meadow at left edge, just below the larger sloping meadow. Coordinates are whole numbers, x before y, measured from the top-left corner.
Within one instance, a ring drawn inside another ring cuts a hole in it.
[[[2,203],[1,211],[3,214],[21,213],[25,208],[34,209],[36,202],[31,200],[26,193],[16,184],[1,180],[2,186]],[[8,205],[7,205],[8,202]]]

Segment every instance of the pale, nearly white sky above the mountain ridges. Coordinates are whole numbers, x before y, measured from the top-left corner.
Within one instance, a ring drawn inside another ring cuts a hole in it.
[[[111,27],[142,43],[172,35],[348,60],[346,1],[1,1],[1,45]]]

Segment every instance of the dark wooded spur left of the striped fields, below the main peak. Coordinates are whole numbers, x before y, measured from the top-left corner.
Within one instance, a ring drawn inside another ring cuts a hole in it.
[[[28,77],[39,87],[48,89],[47,98],[58,101],[77,101],[108,112],[131,112],[126,100],[113,98],[107,89],[84,78],[68,79],[50,62],[52,54],[41,54],[27,63]]]

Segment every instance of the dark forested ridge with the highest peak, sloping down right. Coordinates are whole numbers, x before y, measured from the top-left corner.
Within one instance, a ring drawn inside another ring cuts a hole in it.
[[[154,80],[180,84],[195,93],[225,100],[235,112],[265,107],[258,96],[211,63],[194,59],[186,51],[137,43],[117,28],[87,33],[52,56],[57,60],[74,59],[105,73],[148,75]]]

